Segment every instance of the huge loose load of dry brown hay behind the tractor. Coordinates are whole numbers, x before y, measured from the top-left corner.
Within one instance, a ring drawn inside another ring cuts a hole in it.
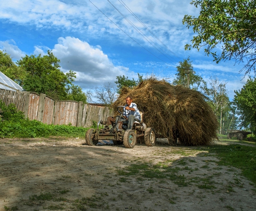
[[[129,95],[144,111],[147,127],[155,128],[161,138],[178,138],[187,146],[209,145],[218,139],[216,115],[198,91],[151,78],[133,89],[122,89],[112,107],[124,105]]]

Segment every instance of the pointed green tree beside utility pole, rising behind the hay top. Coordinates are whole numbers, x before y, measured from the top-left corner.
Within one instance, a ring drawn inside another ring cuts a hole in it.
[[[190,61],[189,57],[187,59],[183,59],[183,62],[179,62],[179,66],[177,66],[176,78],[173,80],[173,85],[183,85],[184,87],[191,87],[192,89],[198,90],[200,87],[204,87],[206,85],[205,81],[201,76],[196,75],[193,70],[192,61]]]

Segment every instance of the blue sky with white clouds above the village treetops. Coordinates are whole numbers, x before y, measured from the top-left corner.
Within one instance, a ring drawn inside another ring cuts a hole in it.
[[[199,14],[190,2],[0,1],[0,50],[13,60],[52,50],[61,60],[63,72],[77,73],[75,84],[85,92],[104,83],[114,86],[120,75],[137,79],[137,73],[172,82],[179,61],[189,56],[194,71],[203,79],[217,77],[227,83],[232,100],[234,90],[241,89],[249,75],[239,73],[243,64],[235,65],[234,60],[216,64],[204,50],[184,50],[194,33],[182,19],[185,14]]]

